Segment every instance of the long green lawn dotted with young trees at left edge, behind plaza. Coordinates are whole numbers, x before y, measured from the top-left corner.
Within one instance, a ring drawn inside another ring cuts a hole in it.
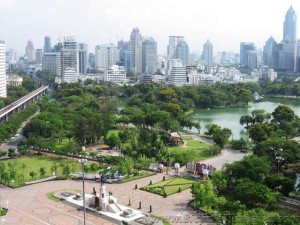
[[[39,170],[41,167],[44,167],[46,171],[44,177],[52,176],[51,167],[53,165],[57,166],[57,176],[63,175],[62,170],[65,165],[69,165],[72,172],[81,171],[80,164],[77,162],[77,160],[45,155],[9,159],[2,161],[2,163],[5,164],[5,171],[9,170],[8,163],[13,165],[13,169],[16,171],[16,179],[15,183],[13,184],[15,187],[21,186],[26,181],[31,181],[32,177],[29,175],[31,171],[36,173],[33,179],[40,179]]]

